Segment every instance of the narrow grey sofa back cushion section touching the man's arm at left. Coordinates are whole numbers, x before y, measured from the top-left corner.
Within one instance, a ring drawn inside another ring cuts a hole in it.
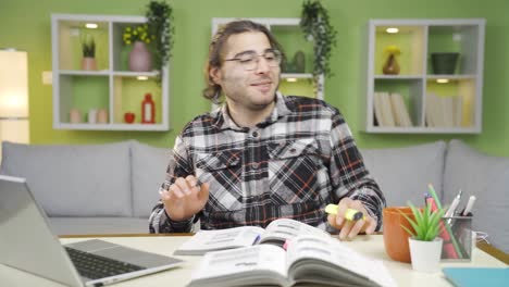
[[[134,216],[148,217],[160,198],[158,191],[164,180],[172,150],[133,141],[131,151]]]

